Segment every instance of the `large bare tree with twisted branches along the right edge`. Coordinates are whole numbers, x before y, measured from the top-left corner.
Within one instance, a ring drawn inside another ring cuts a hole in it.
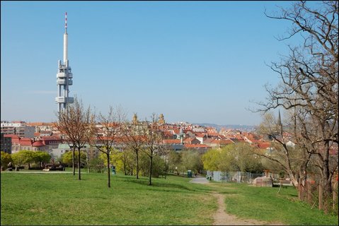
[[[299,131],[294,136],[298,145],[314,158],[326,201],[332,192],[333,172],[338,170],[338,153],[330,155],[333,145],[338,149],[339,140],[338,1],[323,1],[317,8],[298,1],[292,8],[280,9],[279,15],[266,14],[269,18],[292,22],[289,35],[280,40],[300,34],[304,43],[289,47],[289,56],[270,66],[282,83],[277,88],[266,86],[268,100],[260,103],[261,110],[268,112],[282,107],[295,112],[292,120]]]

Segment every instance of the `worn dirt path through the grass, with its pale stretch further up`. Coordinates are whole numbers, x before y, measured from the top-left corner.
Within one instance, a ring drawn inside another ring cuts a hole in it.
[[[209,181],[204,177],[197,177],[190,181],[191,183],[196,184],[209,184]],[[217,198],[218,202],[218,210],[214,214],[214,222],[213,225],[272,225],[272,223],[263,222],[259,220],[241,220],[237,218],[235,215],[230,215],[226,213],[226,204],[224,202],[224,196],[222,194],[217,193],[216,191],[212,194],[215,198]],[[274,223],[274,225],[283,225],[279,222]]]

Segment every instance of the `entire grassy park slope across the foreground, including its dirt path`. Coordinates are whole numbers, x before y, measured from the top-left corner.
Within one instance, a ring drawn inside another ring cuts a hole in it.
[[[1,172],[1,225],[338,225],[293,187],[69,172]],[[194,183],[194,182],[197,183]],[[192,183],[193,182],[193,183]]]

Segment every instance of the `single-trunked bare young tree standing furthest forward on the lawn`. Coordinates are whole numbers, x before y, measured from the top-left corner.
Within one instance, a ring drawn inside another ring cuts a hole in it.
[[[104,153],[107,157],[107,175],[108,175],[108,187],[110,188],[110,155],[117,143],[117,138],[122,134],[122,123],[125,121],[125,112],[121,107],[114,109],[110,106],[108,115],[98,115],[98,124],[100,129],[103,130],[104,135],[96,133],[96,139],[93,145]]]

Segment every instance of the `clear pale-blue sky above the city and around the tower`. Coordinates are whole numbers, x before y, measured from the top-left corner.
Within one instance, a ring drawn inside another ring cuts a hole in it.
[[[1,1],[1,120],[55,121],[67,11],[71,96],[132,119],[259,124],[291,1]]]

